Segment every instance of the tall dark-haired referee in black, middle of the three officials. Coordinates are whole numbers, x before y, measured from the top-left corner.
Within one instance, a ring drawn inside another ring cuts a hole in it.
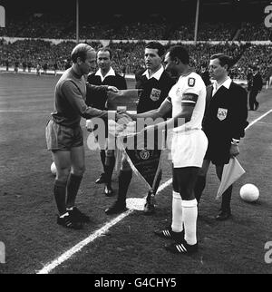
[[[135,74],[136,88],[141,89],[141,95],[137,105],[137,112],[148,112],[156,110],[168,96],[168,92],[174,85],[175,81],[165,72],[162,66],[165,49],[159,42],[146,44],[144,50],[144,61],[146,69]],[[164,118],[168,118],[166,116]],[[129,163],[123,158],[121,171],[119,175],[119,192],[118,198],[112,207],[106,209],[108,215],[120,213],[126,209],[126,194],[131,183],[132,170]],[[161,170],[155,183],[154,194],[159,188],[161,180]],[[144,213],[150,215],[154,212],[154,205],[151,202],[151,192],[148,193]]]

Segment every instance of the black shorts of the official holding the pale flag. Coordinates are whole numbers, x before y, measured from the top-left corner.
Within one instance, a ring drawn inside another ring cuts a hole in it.
[[[204,160],[209,160],[215,165],[228,164],[230,155],[229,149],[231,141],[222,141],[220,139],[208,139],[208,149]]]

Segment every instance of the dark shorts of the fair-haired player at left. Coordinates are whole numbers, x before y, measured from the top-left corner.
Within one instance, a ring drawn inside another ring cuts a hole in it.
[[[45,137],[49,151],[71,151],[73,147],[83,146],[81,126],[73,129],[50,120],[45,129]]]

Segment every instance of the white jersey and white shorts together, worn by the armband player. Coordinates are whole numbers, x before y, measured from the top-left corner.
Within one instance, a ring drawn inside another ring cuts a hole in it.
[[[174,168],[201,167],[207,151],[208,140],[201,131],[206,104],[206,86],[197,73],[180,76],[169,92],[172,117],[178,116],[182,104],[191,103],[194,110],[189,122],[174,128],[171,141],[171,157]]]

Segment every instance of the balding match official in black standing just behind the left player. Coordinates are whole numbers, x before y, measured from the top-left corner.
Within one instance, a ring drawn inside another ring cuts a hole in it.
[[[124,77],[116,73],[112,68],[112,51],[108,47],[103,47],[97,52],[97,64],[99,70],[96,73],[90,73],[87,81],[94,85],[112,85],[119,90],[127,89],[127,83]],[[94,108],[105,110],[107,96],[102,93],[89,94],[87,91],[86,103]],[[107,123],[106,123],[107,127]],[[106,129],[106,133],[108,130]],[[103,145],[104,146],[104,145]],[[105,183],[104,193],[110,197],[113,195],[112,190],[112,172],[115,165],[115,156],[113,150],[104,150],[101,147],[100,155],[104,172],[95,181],[95,183]],[[107,159],[106,159],[107,158]]]

